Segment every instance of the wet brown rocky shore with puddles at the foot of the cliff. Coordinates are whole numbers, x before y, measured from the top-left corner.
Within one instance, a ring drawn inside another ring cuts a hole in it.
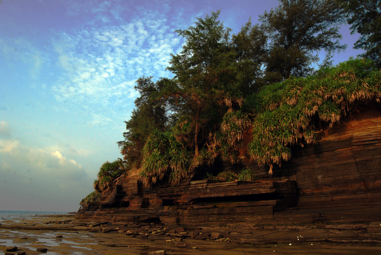
[[[274,254],[274,252],[373,254],[381,252],[380,237],[378,234],[369,233],[361,225],[342,230],[329,226],[264,227],[237,233],[222,228],[186,228],[153,222],[134,225],[115,225],[110,222],[75,223],[71,215],[40,216],[17,222],[2,221],[0,251],[4,254],[50,255],[108,255],[126,252],[147,255],[216,254],[216,252],[218,254]],[[7,251],[7,247],[16,249]]]

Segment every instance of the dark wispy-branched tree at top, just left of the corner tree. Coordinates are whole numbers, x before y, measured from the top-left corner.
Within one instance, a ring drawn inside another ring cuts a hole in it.
[[[272,82],[305,77],[320,50],[329,54],[346,47],[339,43],[343,13],[335,0],[280,0],[260,20],[271,39],[266,72]]]

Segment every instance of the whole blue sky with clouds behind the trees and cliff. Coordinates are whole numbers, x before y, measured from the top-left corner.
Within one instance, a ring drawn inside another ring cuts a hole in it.
[[[176,29],[221,10],[238,33],[277,0],[0,0],[0,210],[73,212],[121,158],[135,81],[171,78]],[[343,25],[345,52],[361,54]],[[323,57],[321,58],[323,59]]]

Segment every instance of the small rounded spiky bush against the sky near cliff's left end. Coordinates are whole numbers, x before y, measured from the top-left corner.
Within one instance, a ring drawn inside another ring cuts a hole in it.
[[[113,182],[125,172],[126,166],[121,159],[113,162],[106,161],[99,168],[97,180],[93,184],[94,189],[103,191],[108,187],[112,187]]]

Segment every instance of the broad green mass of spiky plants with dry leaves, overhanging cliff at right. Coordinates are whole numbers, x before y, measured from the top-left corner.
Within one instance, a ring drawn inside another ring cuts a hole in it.
[[[308,78],[267,86],[257,97],[248,152],[260,165],[281,165],[290,147],[315,142],[324,122],[332,126],[358,104],[380,103],[381,71],[369,60],[350,59]]]

